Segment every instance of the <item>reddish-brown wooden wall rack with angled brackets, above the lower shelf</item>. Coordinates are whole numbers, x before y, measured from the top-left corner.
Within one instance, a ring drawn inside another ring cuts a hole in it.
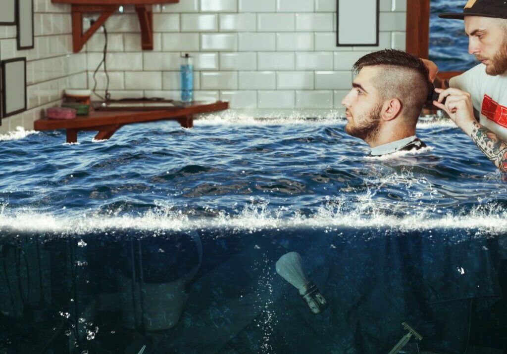
[[[153,9],[155,4],[176,4],[179,0],[51,0],[54,4],[72,5],[72,37],[74,53],[78,53],[90,37],[120,6],[133,5],[141,27],[143,50],[153,50]],[[95,23],[83,33],[83,14],[100,13]]]

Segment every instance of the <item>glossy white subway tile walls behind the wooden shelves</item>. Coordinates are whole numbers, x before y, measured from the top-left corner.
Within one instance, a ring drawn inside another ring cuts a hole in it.
[[[156,5],[154,50],[142,51],[132,6],[105,23],[113,98],[179,98],[181,56],[194,57],[195,98],[232,108],[341,108],[353,63],[371,51],[405,49],[407,0],[380,0],[378,47],[336,47],[336,0],[180,0]],[[15,26],[0,26],[2,59],[26,56],[29,110],[0,132],[30,127],[65,88],[93,88],[104,47],[97,31],[72,53],[70,6],[34,2],[35,49],[16,51]],[[97,14],[92,15],[95,18]],[[85,20],[85,28],[89,21]],[[105,76],[97,74],[103,93]],[[16,123],[16,124],[17,124]]]

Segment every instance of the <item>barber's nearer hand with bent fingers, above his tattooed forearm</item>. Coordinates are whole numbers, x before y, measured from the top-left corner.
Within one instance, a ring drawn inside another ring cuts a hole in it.
[[[475,122],[474,106],[472,97],[468,92],[458,89],[435,89],[439,93],[439,100],[433,101],[433,104],[447,112],[451,120],[461,128],[466,134],[472,134],[472,123]],[[446,98],[445,104],[442,101]]]

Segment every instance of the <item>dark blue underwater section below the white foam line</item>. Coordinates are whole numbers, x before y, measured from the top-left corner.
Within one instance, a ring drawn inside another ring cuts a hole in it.
[[[402,323],[421,339],[401,352],[506,345],[505,233],[4,230],[0,245],[2,353],[388,353]]]

